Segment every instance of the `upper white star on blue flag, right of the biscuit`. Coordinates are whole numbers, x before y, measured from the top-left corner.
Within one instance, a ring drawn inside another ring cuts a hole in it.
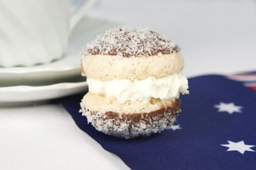
[[[220,102],[219,105],[215,105],[215,108],[218,108],[218,112],[228,112],[229,114],[233,114],[233,112],[241,113],[242,106],[236,106],[234,103],[223,103]]]

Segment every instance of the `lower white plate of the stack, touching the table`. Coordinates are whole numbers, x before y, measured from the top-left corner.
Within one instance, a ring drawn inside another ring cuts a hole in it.
[[[58,83],[47,86],[9,86],[0,88],[0,106],[27,105],[86,92],[87,82]]]

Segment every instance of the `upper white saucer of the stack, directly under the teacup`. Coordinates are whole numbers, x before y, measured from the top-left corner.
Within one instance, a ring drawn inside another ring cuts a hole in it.
[[[82,48],[96,35],[103,33],[106,29],[117,26],[117,23],[103,19],[84,17],[74,29],[69,40],[67,55],[48,64],[30,67],[0,67],[0,82],[50,81],[77,77],[80,75],[80,53]],[[9,84],[10,84],[9,83]]]

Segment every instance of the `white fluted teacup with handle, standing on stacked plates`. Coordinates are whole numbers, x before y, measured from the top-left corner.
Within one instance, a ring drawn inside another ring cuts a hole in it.
[[[61,58],[69,33],[93,4],[71,14],[69,0],[0,1],[0,66],[30,66]]]

